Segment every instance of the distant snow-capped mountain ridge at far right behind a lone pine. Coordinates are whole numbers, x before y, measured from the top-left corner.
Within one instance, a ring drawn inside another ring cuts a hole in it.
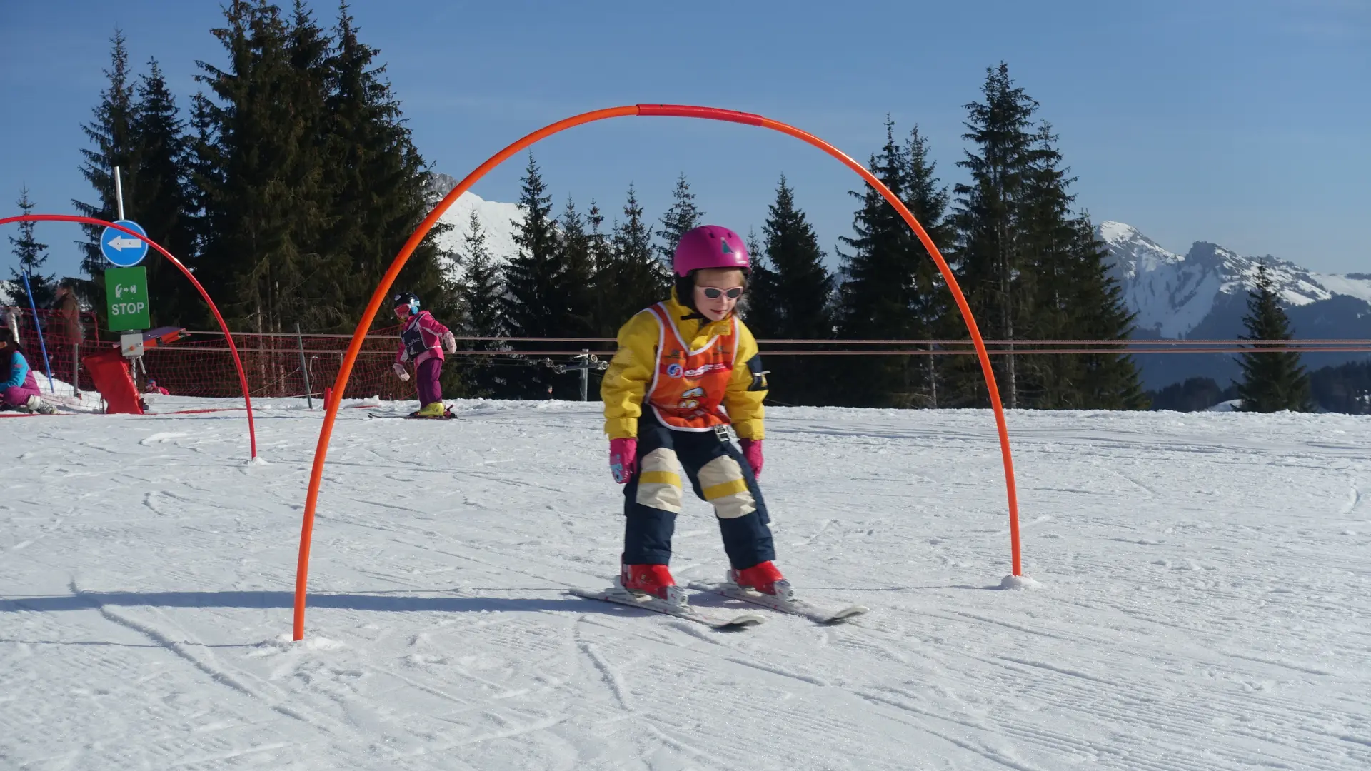
[[[1196,241],[1172,252],[1123,222],[1095,228],[1113,259],[1111,274],[1124,303],[1137,314],[1139,339],[1235,339],[1243,333],[1248,291],[1263,261],[1290,316],[1296,337],[1371,337],[1371,274],[1315,273],[1272,257],[1252,258]],[[1142,355],[1143,380],[1158,388],[1186,377],[1213,377],[1220,386],[1238,376],[1228,354]],[[1311,369],[1366,359],[1366,354],[1307,354]]]

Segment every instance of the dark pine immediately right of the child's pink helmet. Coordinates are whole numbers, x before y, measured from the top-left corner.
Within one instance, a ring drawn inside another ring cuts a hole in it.
[[[761,339],[825,339],[834,333],[834,277],[795,191],[780,178],[762,225],[765,259],[755,259],[747,325]],[[761,255],[758,255],[761,257]],[[771,391],[791,405],[823,403],[831,372],[817,357],[779,355],[766,362]]]

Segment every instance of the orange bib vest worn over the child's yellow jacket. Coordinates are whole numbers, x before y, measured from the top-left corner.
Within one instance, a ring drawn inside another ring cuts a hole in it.
[[[713,431],[728,424],[724,392],[738,357],[738,318],[727,335],[716,335],[699,350],[681,340],[665,303],[647,309],[657,317],[657,366],[647,388],[647,405],[673,431]],[[668,336],[670,329],[670,336]]]

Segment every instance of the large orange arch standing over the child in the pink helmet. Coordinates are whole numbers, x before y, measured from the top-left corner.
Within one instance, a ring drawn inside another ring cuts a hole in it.
[[[547,139],[558,132],[563,132],[573,126],[580,126],[583,123],[591,123],[595,121],[603,121],[607,118],[624,118],[629,115],[657,115],[657,117],[677,117],[677,118],[703,118],[707,121],[727,121],[732,123],[746,123],[750,126],[761,126],[772,130],[777,130],[784,134],[790,134],[806,144],[812,144],[818,150],[823,150],[828,155],[836,158],[845,166],[857,173],[868,185],[875,188],[895,211],[903,217],[905,222],[914,230],[919,240],[923,241],[924,248],[928,250],[928,255],[934,258],[938,263],[938,270],[942,272],[943,280],[947,281],[947,288],[951,289],[953,299],[957,302],[957,307],[961,310],[961,317],[967,321],[967,329],[971,332],[971,339],[976,346],[976,355],[980,358],[980,369],[986,376],[986,386],[990,390],[990,405],[995,412],[995,427],[999,431],[999,449],[1005,465],[1005,487],[1009,499],[1009,542],[1012,551],[1012,565],[1013,575],[1021,575],[1020,560],[1019,560],[1019,495],[1015,490],[1015,465],[1013,457],[1009,453],[1009,429],[1005,425],[1005,410],[999,402],[999,388],[995,386],[995,376],[990,368],[990,354],[986,351],[986,344],[980,337],[980,331],[976,328],[976,320],[971,314],[971,306],[967,305],[967,298],[961,294],[961,287],[957,284],[957,278],[953,276],[951,269],[947,268],[947,262],[943,259],[942,252],[934,246],[932,239],[928,237],[928,232],[924,230],[919,220],[905,207],[903,203],[895,198],[895,193],[890,191],[880,180],[877,180],[865,166],[857,163],[849,158],[845,152],[836,147],[828,144],[827,141],[797,129],[795,126],[781,123],[780,121],[772,121],[771,118],[764,118],[761,115],[754,115],[751,112],[738,112],[733,110],[720,110],[716,107],[696,107],[690,104],[627,104],[624,107],[607,107],[605,110],[594,110],[591,112],[581,112],[580,115],[573,115],[570,118],[558,121],[548,126],[544,126],[524,139],[515,141],[514,144],[506,147],[505,150],[496,152],[487,161],[476,167],[474,171],[466,176],[450,193],[447,193],[443,200],[433,207],[433,211],[420,222],[420,226],[414,229],[410,239],[404,241],[404,247],[400,248],[400,254],[395,257],[395,262],[381,277],[381,283],[377,284],[376,292],[372,295],[372,300],[366,303],[366,310],[362,313],[362,320],[356,325],[356,331],[352,333],[352,343],[348,346],[347,354],[343,358],[343,365],[339,368],[337,380],[333,383],[333,398],[326,406],[324,414],[324,427],[319,429],[319,443],[314,451],[314,468],[310,471],[310,487],[304,498],[304,521],[300,525],[300,557],[295,573],[295,639],[302,639],[304,637],[304,595],[306,583],[308,580],[308,567],[310,567],[310,539],[314,532],[314,510],[319,501],[319,482],[324,477],[324,461],[329,451],[329,439],[333,436],[333,421],[337,418],[339,402],[343,398],[343,390],[347,387],[348,377],[352,375],[352,364],[356,359],[358,353],[362,350],[362,339],[366,331],[372,327],[372,320],[376,318],[376,313],[381,307],[381,300],[385,298],[387,292],[391,289],[391,284],[395,283],[395,277],[399,276],[400,268],[409,261],[410,254],[418,247],[424,236],[428,235],[429,229],[437,222],[439,217],[457,199],[472,188],[485,174],[492,169],[503,163],[515,152]]]

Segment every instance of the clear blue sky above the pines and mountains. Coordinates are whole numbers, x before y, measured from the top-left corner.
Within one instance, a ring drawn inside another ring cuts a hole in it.
[[[315,0],[324,21],[336,4]],[[846,5],[846,7],[843,7]],[[1185,252],[1211,240],[1313,270],[1371,272],[1371,3],[356,0],[415,143],[457,177],[566,115],[639,102],[761,112],[865,159],[886,115],[919,123],[943,181],[965,143],[962,106],[1009,63],[1041,103],[1095,221],[1128,222]],[[38,211],[89,200],[77,171],[104,85],[108,38],[156,58],[184,100],[196,59],[222,63],[207,0],[0,1],[0,211],[25,182]],[[857,178],[798,141],[747,126],[621,118],[535,147],[557,207],[617,214],[629,182],[654,220],[686,173],[710,221],[761,229],[786,174],[832,254]],[[521,161],[476,192],[518,195]],[[40,225],[74,272],[74,225]],[[8,246],[8,244],[5,244]],[[3,266],[12,262],[3,250]],[[8,273],[7,269],[0,269]]]

